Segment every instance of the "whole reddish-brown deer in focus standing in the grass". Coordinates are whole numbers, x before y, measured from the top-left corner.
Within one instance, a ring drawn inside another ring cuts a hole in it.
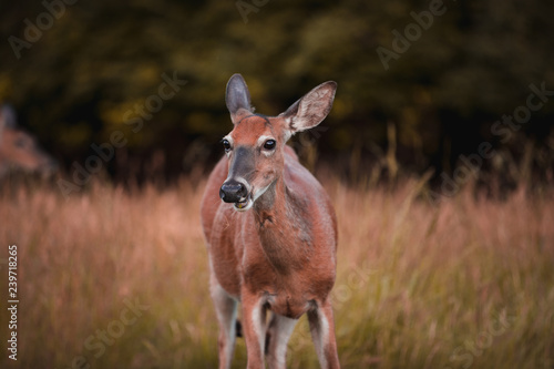
[[[340,368],[330,299],[337,217],[322,185],[286,145],[329,114],[336,90],[336,82],[325,82],[281,114],[266,116],[254,113],[240,74],[227,83],[233,131],[222,140],[225,155],[201,203],[220,369],[230,367],[238,335],[247,368],[285,368],[288,340],[304,314],[321,368]]]

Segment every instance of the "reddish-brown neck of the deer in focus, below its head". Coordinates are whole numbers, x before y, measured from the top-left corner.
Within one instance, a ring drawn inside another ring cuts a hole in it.
[[[278,178],[255,202],[254,217],[268,262],[280,274],[302,268],[309,259],[311,234],[308,206]]]

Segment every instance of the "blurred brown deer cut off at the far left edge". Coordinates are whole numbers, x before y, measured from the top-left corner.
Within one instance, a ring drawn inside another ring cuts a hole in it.
[[[42,152],[37,141],[17,127],[16,113],[9,105],[0,106],[0,177],[9,171],[52,174],[55,161]]]

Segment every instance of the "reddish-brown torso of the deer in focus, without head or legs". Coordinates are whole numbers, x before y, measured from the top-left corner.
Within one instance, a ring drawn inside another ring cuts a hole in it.
[[[264,291],[274,312],[297,319],[335,283],[335,263],[329,260],[335,260],[337,224],[319,183],[287,151],[283,182],[275,186],[287,197],[280,208],[255,206],[243,214],[222,203],[219,187],[228,173],[224,157],[209,178],[203,217],[208,219],[204,227],[220,286],[239,299],[245,276],[250,288]]]

